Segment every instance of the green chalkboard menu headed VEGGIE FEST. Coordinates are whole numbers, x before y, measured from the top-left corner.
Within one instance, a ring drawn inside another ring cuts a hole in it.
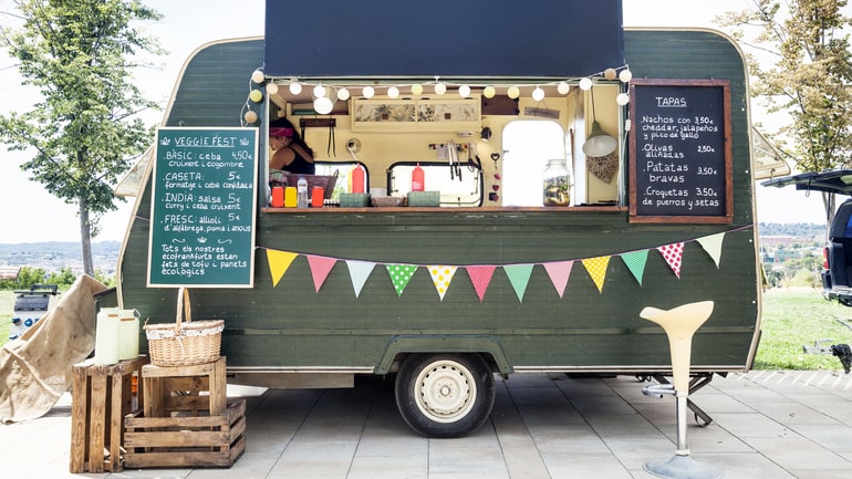
[[[149,287],[251,288],[257,128],[160,128]]]

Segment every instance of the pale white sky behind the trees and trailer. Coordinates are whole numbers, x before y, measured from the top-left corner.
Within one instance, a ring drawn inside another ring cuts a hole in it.
[[[175,81],[187,58],[207,42],[263,34],[263,0],[147,0],[147,6],[163,13],[162,21],[144,25],[145,32],[159,39],[169,52],[156,58],[158,70],[139,72],[137,84],[148,98],[165,107]],[[713,19],[726,11],[742,10],[748,0],[623,0],[625,27],[704,27],[715,28]],[[17,25],[8,13],[12,0],[0,0],[0,24]],[[285,25],[282,25],[285,28]],[[11,58],[0,53],[0,112],[27,112],[35,101],[33,92],[20,85]],[[260,65],[259,65],[260,66]],[[752,103],[752,107],[754,107]],[[149,123],[159,122],[162,112]],[[29,180],[20,169],[27,160],[21,152],[0,147],[0,243],[37,241],[80,241],[76,207],[65,205],[41,184]],[[824,217],[819,195],[806,196],[792,188],[765,188],[757,185],[758,220],[761,222],[815,222]],[[131,201],[133,198],[129,199]],[[101,220],[101,233],[94,241],[121,241],[127,229],[131,201]]]

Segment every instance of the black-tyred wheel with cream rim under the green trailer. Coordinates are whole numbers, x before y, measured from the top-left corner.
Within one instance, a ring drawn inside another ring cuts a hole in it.
[[[495,383],[478,354],[411,355],[396,376],[396,406],[415,431],[459,437],[488,419]]]

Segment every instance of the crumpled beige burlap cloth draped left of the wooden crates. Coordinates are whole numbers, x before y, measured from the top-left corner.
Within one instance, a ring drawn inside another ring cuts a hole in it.
[[[20,339],[0,348],[0,420],[34,419],[71,386],[71,368],[95,347],[94,294],[106,287],[85,274]]]

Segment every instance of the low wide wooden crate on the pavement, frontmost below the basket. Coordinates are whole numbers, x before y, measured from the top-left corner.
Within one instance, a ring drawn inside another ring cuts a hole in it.
[[[246,400],[219,416],[124,418],[125,467],[230,467],[246,450]]]

